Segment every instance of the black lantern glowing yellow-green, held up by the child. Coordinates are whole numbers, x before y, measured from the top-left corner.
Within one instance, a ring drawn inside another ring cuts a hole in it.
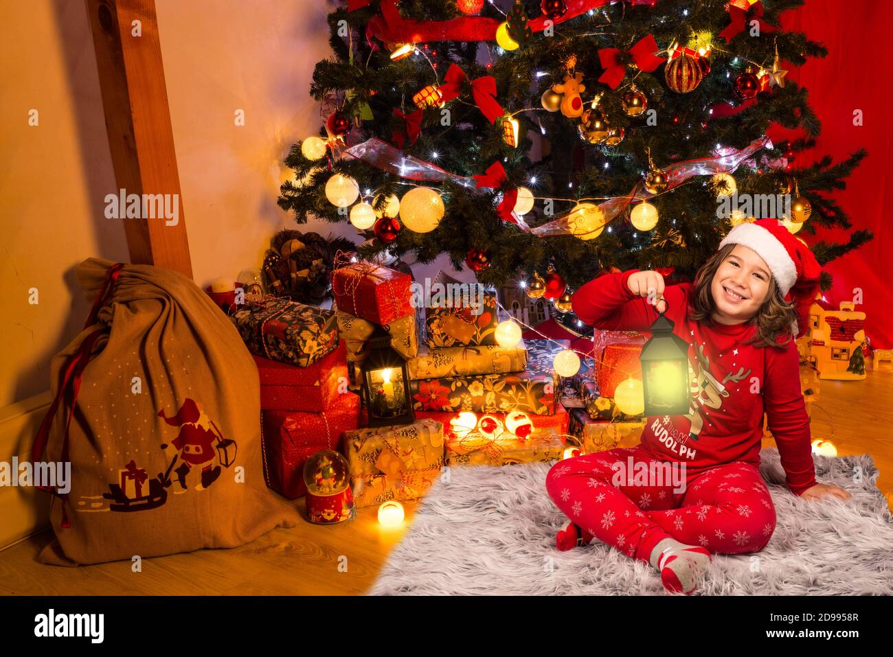
[[[661,312],[648,329],[651,339],[642,347],[646,416],[689,412],[689,343],[672,332],[673,326]]]

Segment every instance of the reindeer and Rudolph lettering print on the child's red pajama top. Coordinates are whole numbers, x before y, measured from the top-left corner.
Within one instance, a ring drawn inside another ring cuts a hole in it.
[[[694,335],[694,331],[692,331],[692,335]],[[704,353],[704,345],[705,343],[701,343],[695,350],[697,372],[692,369],[689,361],[689,381],[691,383],[689,413],[679,416],[684,419],[682,421],[688,420],[688,433],[674,427],[673,419],[669,415],[664,415],[663,419],[656,418],[651,426],[655,437],[663,445],[666,445],[667,449],[672,453],[679,454],[682,458],[689,459],[689,461],[694,460],[697,454],[696,449],[687,445],[689,438],[697,441],[704,428],[704,415],[701,414],[701,407],[705,407],[705,414],[708,413],[706,409],[713,409],[714,411],[722,409],[723,399],[729,397],[729,389],[726,387],[726,384],[737,384],[739,381],[747,379],[752,371],[739,367],[738,371],[726,373],[722,381],[718,380],[710,372],[710,357]],[[738,350],[736,349],[735,353],[737,352]]]

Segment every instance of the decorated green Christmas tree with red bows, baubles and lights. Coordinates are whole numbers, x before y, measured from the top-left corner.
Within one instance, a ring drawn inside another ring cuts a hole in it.
[[[613,267],[690,279],[754,217],[850,229],[828,193],[864,151],[795,163],[821,126],[785,69],[827,54],[780,29],[801,4],[350,0],[280,207],[350,220],[363,256],[447,253],[497,286],[550,266],[571,287]],[[772,143],[773,122],[804,137]],[[824,264],[871,238],[812,248]]]

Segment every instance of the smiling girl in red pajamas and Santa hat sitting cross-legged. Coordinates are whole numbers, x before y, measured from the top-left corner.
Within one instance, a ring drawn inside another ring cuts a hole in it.
[[[697,387],[689,414],[647,418],[637,447],[549,470],[548,494],[572,520],[558,533],[559,550],[598,538],[651,564],[667,590],[686,594],[711,553],[762,550],[775,528],[759,472],[764,412],[790,491],[811,500],[849,497],[815,481],[800,391],[794,340],[805,332],[820,274],[812,252],[780,221],[757,220],[729,231],[694,284],[664,287],[657,272],[630,270],[580,287],[573,311],[596,328],[647,331],[663,312],[689,343]],[[675,477],[663,476],[673,469]],[[643,471],[647,477],[634,479]]]

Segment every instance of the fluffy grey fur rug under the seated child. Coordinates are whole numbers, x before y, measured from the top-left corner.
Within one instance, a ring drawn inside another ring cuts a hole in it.
[[[772,539],[760,553],[714,554],[697,594],[893,594],[893,518],[872,457],[814,459],[819,481],[853,497],[792,495],[778,451],[764,450],[760,470],[778,517]],[[555,549],[567,518],[546,493],[551,466],[451,468],[367,595],[664,595],[655,570],[608,545]]]

